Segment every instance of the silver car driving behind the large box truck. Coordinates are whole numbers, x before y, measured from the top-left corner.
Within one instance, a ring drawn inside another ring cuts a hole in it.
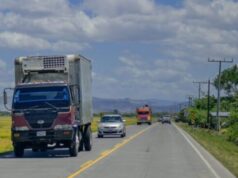
[[[105,135],[126,136],[126,126],[124,120],[119,114],[104,115],[98,124],[98,138]]]

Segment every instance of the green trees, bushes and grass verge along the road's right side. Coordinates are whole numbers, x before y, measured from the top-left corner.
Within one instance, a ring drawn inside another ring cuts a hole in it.
[[[218,88],[218,76],[212,82]],[[176,121],[238,177],[238,66],[221,73],[220,124],[214,116],[217,99],[205,95],[182,109]],[[208,99],[210,100],[208,104]],[[208,112],[209,111],[209,112]],[[213,114],[212,114],[213,112]]]

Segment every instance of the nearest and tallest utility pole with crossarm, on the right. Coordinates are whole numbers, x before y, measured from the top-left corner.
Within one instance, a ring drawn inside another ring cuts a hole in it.
[[[232,63],[233,59],[231,60],[215,60],[215,59],[209,59],[208,62],[218,62],[219,63],[219,72],[218,72],[218,89],[217,89],[217,113],[216,113],[216,119],[217,119],[217,131],[220,131],[221,127],[221,120],[219,117],[219,112],[220,112],[220,89],[221,89],[221,64],[222,63]]]

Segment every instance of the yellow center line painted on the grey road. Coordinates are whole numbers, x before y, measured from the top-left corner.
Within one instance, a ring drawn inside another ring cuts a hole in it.
[[[154,124],[152,127],[156,126],[157,124]],[[102,152],[100,154],[100,156],[98,158],[96,158],[95,160],[90,160],[87,161],[86,163],[84,163],[80,169],[74,173],[72,173],[71,175],[69,175],[67,178],[74,178],[78,175],[80,175],[82,172],[84,172],[85,170],[89,169],[90,167],[92,167],[93,165],[95,165],[97,162],[101,161],[102,159],[108,157],[109,155],[111,155],[113,152],[115,152],[116,150],[118,150],[119,148],[123,147],[124,145],[126,145],[128,142],[130,142],[131,140],[135,139],[136,137],[138,137],[139,135],[143,134],[145,131],[149,130],[152,127],[147,127],[144,130],[141,130],[140,132],[136,133],[135,135],[129,137],[128,139],[123,140],[121,143],[116,144],[112,149],[106,150],[104,152]]]

